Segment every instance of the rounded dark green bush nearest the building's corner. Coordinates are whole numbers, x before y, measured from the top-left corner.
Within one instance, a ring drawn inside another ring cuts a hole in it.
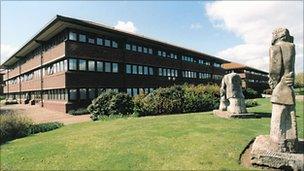
[[[87,109],[91,119],[97,120],[101,116],[129,115],[133,113],[133,108],[134,103],[130,95],[109,90],[94,99]]]

